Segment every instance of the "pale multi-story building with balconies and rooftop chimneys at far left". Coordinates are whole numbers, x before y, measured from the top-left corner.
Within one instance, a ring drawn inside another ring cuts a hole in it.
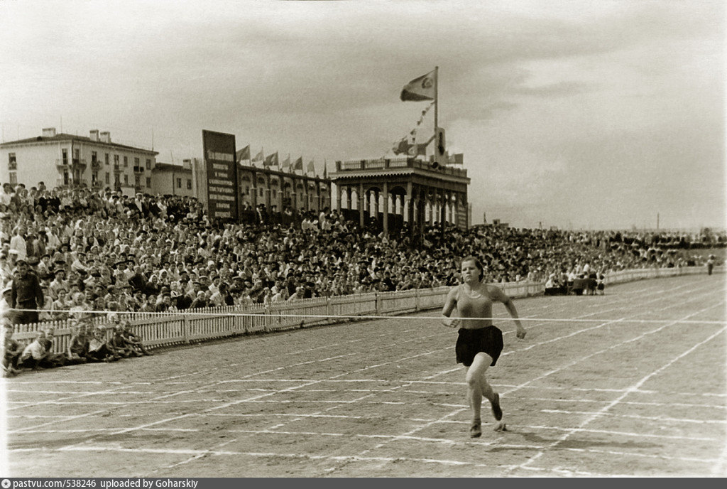
[[[44,129],[36,138],[0,144],[0,181],[47,188],[111,188],[152,193],[156,151],[112,143],[109,132],[89,137]],[[156,192],[154,192],[156,193]]]

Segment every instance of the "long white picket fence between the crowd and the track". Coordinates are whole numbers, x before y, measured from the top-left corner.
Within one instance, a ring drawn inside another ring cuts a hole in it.
[[[716,267],[715,273],[723,273]],[[639,279],[674,277],[676,275],[705,274],[704,267],[680,269],[639,269],[616,271],[606,276],[606,285],[632,282]],[[542,282],[513,282],[497,284],[512,298],[523,298],[543,293]],[[193,309],[163,314],[119,313],[121,319],[131,322],[134,333],[145,346],[158,348],[189,344],[235,335],[270,333],[313,325],[330,325],[357,320],[361,316],[393,316],[417,311],[440,309],[450,287],[404,290],[401,292],[339,295],[331,298],[312,298],[270,305],[225,306]],[[105,316],[92,319],[89,325],[111,325]],[[73,333],[73,319],[15,325],[13,338],[28,342],[36,332],[55,327],[54,351],[66,351]],[[111,329],[108,335],[112,335]]]

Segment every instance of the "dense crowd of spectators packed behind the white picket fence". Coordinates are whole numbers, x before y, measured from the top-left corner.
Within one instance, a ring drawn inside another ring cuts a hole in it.
[[[487,282],[698,263],[700,236],[507,226],[406,226],[383,236],[335,210],[246,209],[212,223],[186,196],[30,189],[0,193],[0,310],[14,322],[163,312],[457,284],[475,255]],[[710,245],[724,246],[725,236]],[[35,306],[35,307],[33,307]],[[36,309],[34,312],[33,309]]]

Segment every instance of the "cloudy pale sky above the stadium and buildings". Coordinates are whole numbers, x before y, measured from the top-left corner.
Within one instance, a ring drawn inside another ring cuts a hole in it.
[[[473,223],[725,228],[723,1],[0,1],[2,140],[43,127],[318,172],[393,156],[438,66]],[[418,127],[433,133],[433,111]]]

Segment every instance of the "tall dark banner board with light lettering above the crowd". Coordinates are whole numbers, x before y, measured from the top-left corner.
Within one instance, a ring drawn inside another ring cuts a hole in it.
[[[202,131],[210,220],[238,220],[235,135]]]

